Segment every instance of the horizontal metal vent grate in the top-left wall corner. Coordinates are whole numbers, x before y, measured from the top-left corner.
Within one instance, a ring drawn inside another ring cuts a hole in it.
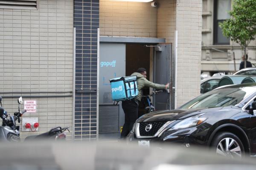
[[[37,0],[0,0],[0,9],[37,9]]]

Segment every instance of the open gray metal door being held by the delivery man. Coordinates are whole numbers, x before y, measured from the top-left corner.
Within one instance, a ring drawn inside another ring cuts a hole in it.
[[[172,44],[161,43],[154,48],[154,82],[157,84],[171,83],[172,81]],[[170,89],[172,93],[172,90]],[[171,109],[172,94],[164,92],[158,93],[154,97],[156,110]]]

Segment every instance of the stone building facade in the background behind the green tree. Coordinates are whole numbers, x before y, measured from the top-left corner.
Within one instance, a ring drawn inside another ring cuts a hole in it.
[[[232,74],[235,72],[235,66],[236,71],[239,70],[244,52],[239,44],[224,37],[218,26],[218,23],[230,18],[228,11],[231,9],[232,0],[203,0],[201,69],[207,74],[212,75],[218,71]],[[248,61],[255,64],[256,41],[250,42],[247,54]]]

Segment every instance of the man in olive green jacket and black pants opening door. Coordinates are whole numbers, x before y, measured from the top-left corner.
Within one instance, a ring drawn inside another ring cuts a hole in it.
[[[131,75],[136,75],[137,77],[137,86],[138,86],[138,95],[128,101],[122,101],[122,108],[125,112],[125,124],[123,125],[121,139],[125,138],[131,131],[135,121],[138,118],[138,105],[141,99],[141,91],[143,87],[152,87],[154,89],[167,89],[169,83],[166,85],[163,84],[154,84],[148,81],[147,72],[144,68],[139,68],[137,72],[132,73]]]

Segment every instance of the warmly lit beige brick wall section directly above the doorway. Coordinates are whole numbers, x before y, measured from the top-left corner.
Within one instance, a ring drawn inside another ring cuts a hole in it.
[[[157,37],[157,8],[151,3],[99,1],[100,35]]]

